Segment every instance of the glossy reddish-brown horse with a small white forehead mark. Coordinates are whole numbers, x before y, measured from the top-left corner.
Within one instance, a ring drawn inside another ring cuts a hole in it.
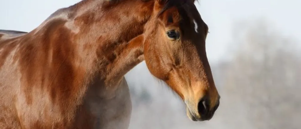
[[[0,128],[126,129],[124,75],[145,60],[194,121],[219,106],[194,0],[83,0],[29,33],[0,31]]]

